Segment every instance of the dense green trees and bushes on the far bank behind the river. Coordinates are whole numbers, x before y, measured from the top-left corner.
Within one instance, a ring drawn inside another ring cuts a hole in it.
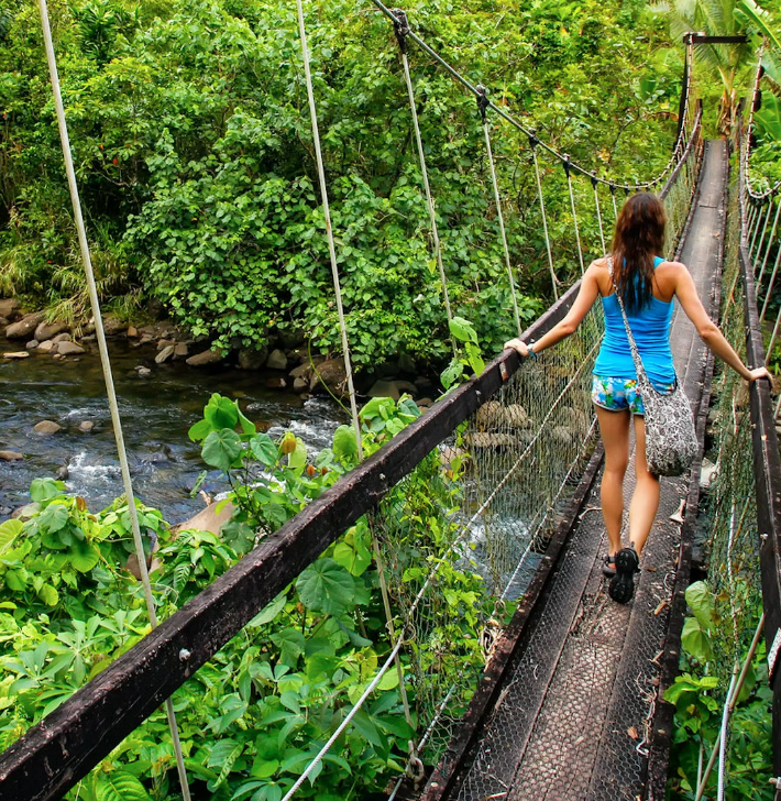
[[[50,8],[102,296],[127,311],[143,288],[226,349],[261,347],[270,329],[295,321],[317,349],[339,350],[293,9],[260,0]],[[647,177],[666,161],[680,48],[640,3],[433,0],[407,11],[471,79],[573,158],[623,177]],[[0,290],[84,318],[36,10],[0,0]],[[400,352],[442,362],[441,288],[388,23],[354,3],[317,1],[307,25],[355,364]],[[428,58],[411,61],[453,308],[496,350],[512,332],[512,303],[476,106]],[[626,76],[619,91],[616,75]],[[526,146],[495,129],[525,320],[550,290]],[[579,267],[563,175],[542,169],[568,279]],[[591,187],[576,191],[591,215]],[[583,224],[595,241],[594,222]]]

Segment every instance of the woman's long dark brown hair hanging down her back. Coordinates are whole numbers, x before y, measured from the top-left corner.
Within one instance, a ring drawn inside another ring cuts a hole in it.
[[[664,248],[667,217],[661,200],[649,191],[625,204],[613,235],[613,275],[627,311],[640,311],[653,297],[653,257]]]

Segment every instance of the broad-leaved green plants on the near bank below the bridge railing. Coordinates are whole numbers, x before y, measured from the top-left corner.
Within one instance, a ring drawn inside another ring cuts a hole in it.
[[[364,451],[380,448],[418,414],[408,397],[367,404]],[[217,453],[212,461],[226,465],[237,513],[219,537],[184,530],[172,538],[160,513],[139,504],[163,619],[356,461],[352,429],[310,458],[294,435],[274,441],[256,432],[238,405],[219,395],[190,437],[202,442],[205,457]],[[127,504],[120,498],[91,514],[51,479],[34,481],[31,495],[35,507],[26,523],[0,525],[0,749],[148,632],[141,588],[125,569],[132,550]],[[404,563],[395,566],[404,573],[398,584],[403,593],[417,593],[457,529],[455,484],[435,453],[392,490],[388,503],[405,545]],[[372,549],[370,523],[361,518],[175,693],[198,797],[278,801],[365,692],[391,649]],[[480,627],[490,614],[482,580],[446,560],[437,586],[418,667],[408,654],[402,662],[413,726],[398,673],[389,670],[301,798],[365,795],[404,770],[419,715],[429,713],[416,670],[471,688],[484,663]],[[403,608],[393,592],[394,608]],[[459,694],[460,703],[470,692]],[[67,798],[167,801],[176,798],[176,782],[166,718],[157,711]]]

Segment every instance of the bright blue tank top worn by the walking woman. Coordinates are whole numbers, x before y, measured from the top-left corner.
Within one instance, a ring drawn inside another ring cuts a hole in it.
[[[663,261],[657,256],[653,260],[653,268],[656,270]],[[644,307],[641,311],[627,312],[642,366],[654,384],[672,384],[675,381],[670,350],[672,307],[672,301],[664,303],[651,297],[650,305]],[[615,293],[602,298],[602,308],[605,312],[605,338],[594,362],[594,375],[637,380],[624,318]]]

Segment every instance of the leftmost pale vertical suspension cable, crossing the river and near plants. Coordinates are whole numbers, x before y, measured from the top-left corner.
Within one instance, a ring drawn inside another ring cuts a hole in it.
[[[155,611],[155,601],[152,595],[152,584],[150,582],[150,573],[146,567],[146,555],[144,553],[144,544],[141,538],[141,527],[139,525],[139,513],[135,508],[135,494],[133,493],[133,482],[130,476],[130,465],[128,464],[128,453],[124,447],[124,436],[122,434],[122,419],[119,413],[119,404],[117,402],[117,393],[114,391],[113,374],[111,371],[111,361],[109,359],[109,349],[106,341],[106,331],[103,330],[103,320],[100,316],[100,298],[95,283],[95,272],[92,270],[92,260],[89,252],[89,242],[87,241],[87,230],[84,223],[84,215],[81,213],[81,200],[78,193],[78,184],[76,182],[76,172],[74,169],[73,155],[70,152],[70,140],[68,136],[68,127],[65,119],[65,107],[63,106],[63,96],[59,88],[59,76],[57,73],[57,61],[54,53],[54,43],[52,42],[52,29],[48,21],[48,8],[46,0],[38,0],[38,11],[41,13],[41,24],[43,28],[43,39],[46,48],[46,61],[48,63],[48,73],[52,80],[52,90],[54,92],[54,106],[57,116],[57,125],[59,128],[59,141],[63,147],[63,156],[65,158],[65,173],[68,179],[68,190],[70,193],[70,201],[74,208],[74,220],[78,234],[79,249],[81,251],[81,260],[87,276],[87,289],[89,293],[89,301],[95,318],[95,333],[98,340],[98,350],[100,352],[100,363],[103,370],[103,380],[106,381],[106,392],[108,395],[109,410],[111,414],[111,424],[114,429],[114,440],[117,442],[117,452],[119,456],[120,471],[122,473],[122,484],[124,486],[124,497],[128,502],[128,513],[130,516],[130,527],[133,533],[133,545],[135,547],[135,556],[139,562],[139,573],[144,588],[144,600],[146,603],[146,613],[150,617],[150,625],[154,629],[157,627],[157,613]],[[170,698],[165,701],[165,713],[168,718],[168,729],[174,746],[174,755],[176,758],[176,769],[179,776],[179,784],[182,786],[182,797],[184,801],[190,801],[190,791],[187,783],[187,770],[182,754],[182,743],[179,739],[179,731],[176,725],[176,713]]]

